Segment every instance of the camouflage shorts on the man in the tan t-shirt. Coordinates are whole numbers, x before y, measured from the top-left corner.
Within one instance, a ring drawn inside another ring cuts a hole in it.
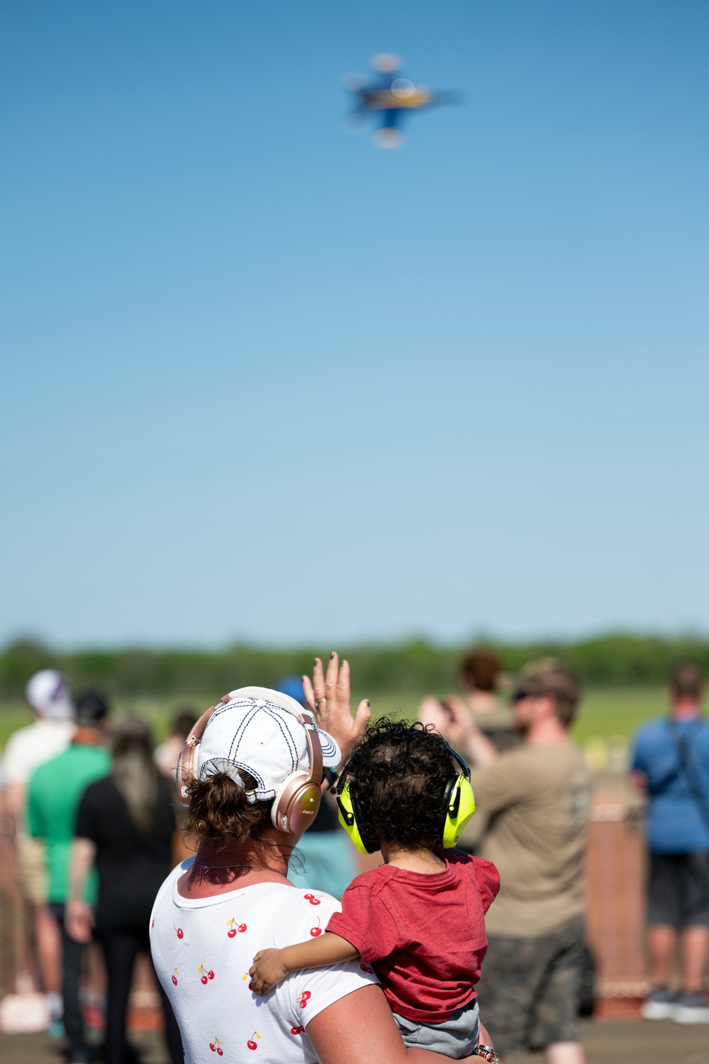
[[[577,1042],[583,919],[535,938],[488,935],[488,942],[477,999],[495,1049]]]

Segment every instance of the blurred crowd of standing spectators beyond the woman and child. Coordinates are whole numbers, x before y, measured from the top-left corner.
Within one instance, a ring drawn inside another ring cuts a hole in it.
[[[592,968],[583,891],[592,777],[570,738],[580,691],[551,659],[506,679],[486,650],[463,659],[459,688],[425,698],[419,716],[471,764],[478,812],[461,845],[501,875],[479,984],[486,1024],[503,1052],[526,1046],[544,1049],[552,1064],[583,1064],[577,1021]],[[300,678],[280,689],[305,704]],[[73,700],[53,669],[32,676],[26,694],[34,721],[10,737],[2,760],[5,834],[31,915],[32,948],[18,964],[17,985],[33,985],[35,1002],[43,995],[37,1026],[64,1033],[69,1064],[88,1064],[80,986],[86,948],[98,942],[107,976],[102,1059],[122,1064],[134,963],[149,954],[150,910],[170,868],[189,853],[178,827],[174,766],[196,714],[179,713],[154,750],[145,720],[112,722],[101,693]],[[653,987],[643,1015],[705,1023],[709,727],[696,666],[675,670],[671,696],[670,715],[641,729],[632,746],[632,780],[648,796]],[[362,870],[328,794],[299,850],[300,863],[289,868],[297,885],[341,897]],[[674,987],[678,945],[681,984]],[[180,1064],[180,1033],[158,992],[170,1059]],[[21,997],[0,1003],[0,1026],[12,1029]]]

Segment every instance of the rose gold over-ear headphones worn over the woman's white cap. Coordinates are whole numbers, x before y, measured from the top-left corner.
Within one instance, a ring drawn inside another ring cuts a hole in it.
[[[221,705],[231,702],[233,698],[264,698],[269,702],[274,702],[280,709],[291,713],[303,725],[305,730],[305,742],[308,749],[309,771],[291,772],[276,787],[275,797],[271,807],[271,824],[278,831],[291,835],[301,835],[310,827],[320,809],[322,798],[322,744],[316,727],[315,720],[305,711],[296,712],[298,702],[283,695],[281,692],[270,691],[266,687],[240,687],[227,695],[222,695],[217,705],[210,705],[202,714],[192,730],[190,731],[180,758],[178,759],[178,794],[183,805],[189,805],[188,786],[193,778],[195,759],[197,747],[202,741],[204,729],[213,713]],[[299,706],[300,710],[300,706]],[[317,742],[314,742],[314,736]]]

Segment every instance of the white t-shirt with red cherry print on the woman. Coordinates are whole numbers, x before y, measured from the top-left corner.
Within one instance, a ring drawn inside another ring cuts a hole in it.
[[[321,934],[340,903],[285,883],[256,883],[210,898],[183,898],[174,868],[153,905],[150,940],[157,977],[182,1033],[185,1064],[317,1064],[309,1021],[376,982],[358,961],[293,971],[266,997],[250,990],[259,949]]]

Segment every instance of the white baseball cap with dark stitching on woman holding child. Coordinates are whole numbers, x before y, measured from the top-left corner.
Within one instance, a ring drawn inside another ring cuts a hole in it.
[[[255,797],[267,801],[291,772],[306,772],[308,761],[305,728],[298,716],[313,717],[309,710],[270,687],[230,691],[230,701],[218,705],[207,720],[197,748],[196,775],[206,780],[225,772],[244,787],[239,769],[256,780]],[[313,717],[315,721],[315,717]],[[317,729],[325,768],[336,768],[340,748],[327,732]]]

